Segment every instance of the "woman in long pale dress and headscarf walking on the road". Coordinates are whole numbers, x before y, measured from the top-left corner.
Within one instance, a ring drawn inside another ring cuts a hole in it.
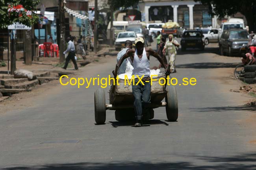
[[[169,40],[165,43],[163,48],[163,55],[168,56],[168,65],[170,66],[171,73],[176,73],[175,69],[175,59],[177,54],[177,49],[180,46],[178,41],[173,39],[173,35],[169,35]]]

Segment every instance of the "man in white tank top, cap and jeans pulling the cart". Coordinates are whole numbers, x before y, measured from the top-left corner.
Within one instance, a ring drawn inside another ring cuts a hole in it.
[[[134,75],[135,79],[134,85],[132,85],[132,93],[134,95],[134,110],[137,120],[134,125],[135,127],[141,127],[143,125],[143,114],[149,113],[148,104],[150,103],[151,96],[149,67],[150,55],[156,57],[158,61],[165,67],[164,62],[158,53],[151,48],[145,48],[144,39],[142,37],[137,37],[135,39],[135,49],[129,49],[126,51],[117,64],[119,69],[124,59],[130,57],[133,61],[134,69],[132,70],[132,75]],[[166,67],[165,70],[167,71]],[[140,77],[141,80],[139,80],[137,76]]]

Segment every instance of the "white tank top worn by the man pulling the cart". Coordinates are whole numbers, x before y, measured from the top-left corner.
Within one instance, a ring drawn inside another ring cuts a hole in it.
[[[142,75],[144,75],[144,77],[150,76],[149,60],[145,48],[143,49],[143,54],[141,58],[139,58],[137,55],[137,49],[135,50],[133,64],[134,69],[132,70],[132,75],[135,75],[135,78],[137,78],[136,75],[138,75],[139,77],[141,77]]]

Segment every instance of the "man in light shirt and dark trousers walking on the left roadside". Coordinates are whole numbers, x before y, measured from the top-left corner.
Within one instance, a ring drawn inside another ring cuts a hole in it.
[[[68,43],[68,47],[67,47],[66,51],[63,52],[63,54],[66,54],[68,52],[69,52],[69,54],[66,58],[65,66],[63,67],[63,69],[67,69],[69,61],[72,60],[74,66],[75,66],[75,69],[77,70],[78,66],[77,66],[76,60],[75,60],[76,49],[75,49],[74,43],[72,42],[70,37],[67,38],[67,43]]]

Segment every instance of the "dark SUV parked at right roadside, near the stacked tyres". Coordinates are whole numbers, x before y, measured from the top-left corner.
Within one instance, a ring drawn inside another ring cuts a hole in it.
[[[244,29],[230,29],[223,31],[219,40],[221,55],[232,56],[233,53],[240,53],[241,48],[248,44],[248,32]]]

